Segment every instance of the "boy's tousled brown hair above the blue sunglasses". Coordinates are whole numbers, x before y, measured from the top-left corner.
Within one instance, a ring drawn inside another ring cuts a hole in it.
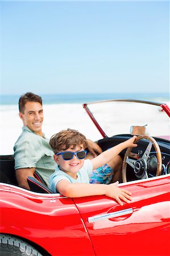
[[[62,150],[67,150],[67,148],[71,146],[73,146],[74,148],[80,144],[83,144],[84,148],[88,146],[86,137],[83,134],[69,128],[67,130],[63,130],[59,133],[54,134],[51,137],[49,144],[55,154]]]

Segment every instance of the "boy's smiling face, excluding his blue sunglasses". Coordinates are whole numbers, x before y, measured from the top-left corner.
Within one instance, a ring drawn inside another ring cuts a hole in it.
[[[69,147],[67,150],[64,151],[71,151],[71,152],[77,152],[84,150],[84,147],[82,144],[77,145],[76,147]],[[57,164],[59,164],[60,170],[66,172],[68,175],[73,177],[73,179],[77,179],[77,172],[81,169],[82,166],[84,166],[84,160],[85,159],[78,159],[76,155],[73,156],[71,160],[64,160],[61,155],[54,155],[55,161]]]

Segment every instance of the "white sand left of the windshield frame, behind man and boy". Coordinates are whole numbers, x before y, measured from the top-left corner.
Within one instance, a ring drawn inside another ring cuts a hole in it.
[[[60,130],[72,128],[96,141],[102,138],[81,104],[44,105],[43,132],[47,138]],[[1,155],[13,154],[13,146],[22,132],[18,105],[1,106]]]

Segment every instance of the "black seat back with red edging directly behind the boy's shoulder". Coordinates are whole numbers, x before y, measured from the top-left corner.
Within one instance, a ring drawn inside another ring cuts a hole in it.
[[[30,190],[38,193],[53,193],[51,189],[49,189],[46,185],[40,183],[34,177],[27,177],[28,185],[30,186]]]

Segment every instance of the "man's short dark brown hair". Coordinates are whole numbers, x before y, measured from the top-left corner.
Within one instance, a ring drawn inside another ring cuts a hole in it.
[[[39,102],[41,105],[43,104],[42,98],[34,93],[27,92],[26,94],[23,94],[19,98],[19,112],[24,114],[25,105],[27,102],[34,101]]]

